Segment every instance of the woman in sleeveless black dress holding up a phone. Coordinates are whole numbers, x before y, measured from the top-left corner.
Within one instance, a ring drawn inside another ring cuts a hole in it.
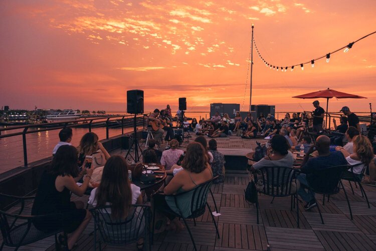
[[[32,215],[52,214],[34,221],[39,230],[48,232],[64,229],[66,233],[71,233],[68,249],[73,247],[92,217],[88,210],[83,209],[84,203],[70,201],[70,192],[84,195],[93,173],[93,169],[80,172],[77,156],[77,149],[73,146],[64,145],[58,149],[51,166],[42,175],[32,209]],[[85,173],[84,182],[79,187],[76,182]],[[61,237],[59,239],[62,241]]]

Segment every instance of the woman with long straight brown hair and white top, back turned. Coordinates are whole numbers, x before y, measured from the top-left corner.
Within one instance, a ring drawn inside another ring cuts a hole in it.
[[[107,210],[107,212],[111,214],[112,219],[127,220],[132,218],[130,225],[133,228],[124,229],[123,232],[134,231],[136,228],[142,233],[145,222],[141,222],[137,217],[140,211],[134,212],[137,215],[131,211],[131,204],[142,204],[141,191],[138,186],[129,181],[128,166],[123,157],[115,155],[107,160],[103,168],[101,183],[99,187],[91,191],[88,203],[94,207],[111,206],[111,210]],[[137,242],[137,247],[142,247],[142,243],[143,240],[140,239]]]

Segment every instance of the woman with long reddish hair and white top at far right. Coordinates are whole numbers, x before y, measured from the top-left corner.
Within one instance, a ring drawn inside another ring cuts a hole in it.
[[[342,152],[350,166],[354,166],[354,174],[361,175],[361,171],[369,165],[374,158],[372,144],[369,139],[363,135],[357,135],[352,139],[353,153],[348,153],[344,148],[338,150]],[[348,171],[351,172],[351,169]]]

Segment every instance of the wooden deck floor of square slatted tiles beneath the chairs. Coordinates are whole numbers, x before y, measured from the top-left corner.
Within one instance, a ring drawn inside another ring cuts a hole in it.
[[[230,145],[230,140],[219,139],[220,144]],[[244,140],[249,141],[249,140]],[[254,144],[251,141],[247,144]],[[244,189],[248,184],[247,174],[227,174],[223,184],[212,187],[221,213],[216,217],[221,238],[216,231],[208,210],[197,219],[197,226],[190,221],[191,230],[199,250],[376,250],[376,188],[364,186],[370,202],[367,207],[360,190],[351,193],[348,183],[344,183],[353,213],[350,220],[344,193],[330,196],[330,201],[322,206],[322,196],[317,196],[325,224],[321,224],[317,208],[305,211],[299,203],[300,228],[296,224],[296,210],[290,211],[290,198],[260,196],[260,224],[257,224],[256,209],[244,199]],[[72,197],[87,202],[88,197]],[[214,210],[212,200],[209,203]],[[30,213],[32,204],[25,209]],[[14,210],[14,209],[13,209]],[[191,224],[192,223],[192,224]],[[93,222],[78,241],[76,250],[93,249]],[[135,244],[124,247],[106,246],[105,250],[136,250]],[[12,250],[5,247],[4,250]],[[21,250],[55,250],[54,237],[23,246]],[[186,229],[180,233],[163,232],[154,238],[152,250],[193,250]]]

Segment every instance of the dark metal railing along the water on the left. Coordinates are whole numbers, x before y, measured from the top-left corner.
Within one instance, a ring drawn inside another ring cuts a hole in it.
[[[139,115],[121,115],[121,116],[103,116],[103,117],[94,117],[94,118],[84,118],[79,120],[69,120],[64,122],[53,122],[53,123],[41,123],[41,124],[27,124],[24,126],[10,126],[7,128],[0,128],[0,139],[10,138],[15,136],[22,136],[23,144],[23,154],[24,154],[24,166],[28,167],[28,154],[27,154],[27,134],[41,133],[46,131],[59,130],[63,128],[82,128],[87,127],[88,131],[95,127],[106,127],[106,139],[109,138],[109,129],[110,128],[119,128],[121,127],[121,135],[124,135],[124,128],[133,127],[134,119],[136,120],[136,126],[145,128],[145,117],[148,114],[139,114]],[[81,123],[80,123],[81,122]],[[29,130],[32,128],[38,129]],[[22,130],[17,133],[10,133],[2,135],[2,132],[12,131],[12,130]]]

